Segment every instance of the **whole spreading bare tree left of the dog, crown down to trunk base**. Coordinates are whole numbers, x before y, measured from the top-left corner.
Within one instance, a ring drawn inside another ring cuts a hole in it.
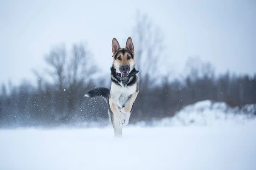
[[[57,46],[45,57],[49,65],[47,73],[58,85],[59,111],[65,121],[73,117],[78,95],[96,73],[92,59],[84,44],[74,44],[70,54],[64,45]]]

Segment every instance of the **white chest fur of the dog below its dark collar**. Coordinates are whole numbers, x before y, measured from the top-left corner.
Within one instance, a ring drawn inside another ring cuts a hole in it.
[[[128,100],[131,98],[131,94],[136,92],[136,84],[132,86],[119,86],[115,83],[111,83],[111,96],[113,102],[120,108],[125,106]]]

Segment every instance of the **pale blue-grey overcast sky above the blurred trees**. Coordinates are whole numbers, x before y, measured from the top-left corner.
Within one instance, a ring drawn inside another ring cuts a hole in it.
[[[255,0],[0,0],[0,83],[34,80],[32,68],[61,42],[86,41],[108,73],[111,41],[125,45],[136,9],[161,29],[166,69],[182,72],[200,56],[217,72],[256,73]]]

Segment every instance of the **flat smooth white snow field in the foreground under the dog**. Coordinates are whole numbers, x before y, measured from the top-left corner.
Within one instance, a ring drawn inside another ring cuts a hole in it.
[[[256,121],[113,130],[0,130],[0,170],[256,170]]]

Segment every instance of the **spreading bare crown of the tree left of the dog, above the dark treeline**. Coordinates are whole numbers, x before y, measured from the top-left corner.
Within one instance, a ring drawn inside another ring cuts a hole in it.
[[[92,57],[83,44],[73,45],[70,55],[64,46],[55,47],[45,60],[51,68],[48,68],[47,72],[55,84],[58,84],[60,91],[71,90],[96,73]]]

